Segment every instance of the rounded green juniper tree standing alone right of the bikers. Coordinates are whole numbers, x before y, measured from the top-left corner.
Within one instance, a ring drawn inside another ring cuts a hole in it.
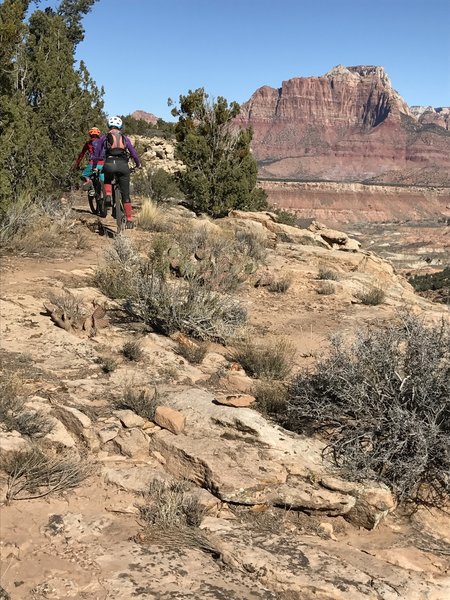
[[[186,165],[179,184],[196,212],[222,217],[235,208],[267,208],[265,192],[256,188],[252,130],[233,124],[239,110],[237,102],[228,104],[221,96],[210,100],[203,88],[180,96],[179,107],[172,110],[178,117],[176,157]]]

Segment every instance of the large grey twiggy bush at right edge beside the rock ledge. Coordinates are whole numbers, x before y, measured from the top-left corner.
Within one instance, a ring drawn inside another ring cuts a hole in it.
[[[399,500],[440,504],[450,492],[450,326],[411,314],[334,338],[313,372],[297,375],[285,427],[321,432],[327,454],[356,480]]]

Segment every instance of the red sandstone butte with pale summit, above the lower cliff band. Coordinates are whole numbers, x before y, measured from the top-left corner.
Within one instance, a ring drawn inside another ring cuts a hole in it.
[[[261,87],[239,122],[254,130],[263,178],[448,184],[448,109],[411,110],[382,67]]]

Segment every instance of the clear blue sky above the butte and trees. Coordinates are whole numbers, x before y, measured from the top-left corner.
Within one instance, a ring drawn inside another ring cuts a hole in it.
[[[381,65],[410,105],[450,106],[450,0],[98,0],[77,56],[109,114],[172,119],[204,87],[245,102],[337,64]]]

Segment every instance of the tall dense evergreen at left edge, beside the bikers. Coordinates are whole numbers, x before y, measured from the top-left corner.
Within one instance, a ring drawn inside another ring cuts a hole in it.
[[[0,5],[0,217],[21,194],[66,186],[86,131],[103,125],[103,90],[74,58],[94,2],[31,15],[30,0]]]

